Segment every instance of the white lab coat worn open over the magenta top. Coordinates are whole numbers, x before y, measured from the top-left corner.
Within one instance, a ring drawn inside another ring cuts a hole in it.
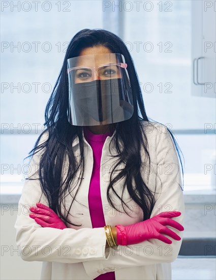
[[[143,124],[147,122],[143,122]],[[172,219],[184,226],[184,200],[180,186],[181,175],[180,165],[176,150],[172,143],[168,130],[164,125],[150,122],[146,135],[149,144],[149,154],[151,159],[151,172],[149,181],[145,183],[148,188],[155,190],[157,202],[152,210],[151,216],[164,211],[180,211],[181,215]],[[47,137],[47,135],[46,135]],[[101,168],[100,168],[100,188],[106,225],[132,225],[142,221],[143,213],[135,202],[130,200],[127,188],[124,193],[124,201],[127,202],[131,211],[126,211],[131,215],[119,213],[112,208],[106,198],[106,189],[109,182],[109,173],[112,169],[113,158],[109,157],[108,136],[103,146]],[[44,137],[41,138],[40,143]],[[76,137],[73,143],[75,155],[79,153],[79,139]],[[111,149],[113,154],[113,149]],[[84,139],[85,173],[82,184],[78,191],[76,200],[70,209],[70,220],[81,227],[67,225],[67,229],[59,230],[53,228],[42,228],[38,223],[30,218],[28,208],[36,206],[41,197],[41,187],[39,180],[26,180],[19,200],[20,213],[17,215],[15,223],[16,243],[20,247],[21,258],[25,261],[42,261],[41,279],[94,279],[106,272],[115,272],[115,279],[171,279],[171,262],[178,256],[183,232],[167,226],[181,237],[172,244],[167,244],[158,239],[149,239],[138,244],[107,248],[104,228],[94,228],[91,226],[91,219],[88,210],[88,188],[93,167],[93,155],[90,145]],[[141,150],[142,158],[144,152]],[[39,156],[34,156],[31,166],[39,163]],[[39,166],[39,165],[37,165]],[[67,170],[67,158],[65,159],[65,171]],[[122,166],[121,166],[122,167]],[[119,169],[121,168],[119,167]],[[36,170],[36,169],[34,169]],[[157,171],[156,173],[153,171]],[[30,173],[31,174],[31,173]],[[142,170],[143,178],[146,178],[147,170]],[[64,176],[64,174],[63,174]],[[161,180],[161,181],[160,181]],[[121,188],[124,180],[118,182],[115,190],[121,195]],[[72,182],[73,189],[74,183]],[[161,188],[162,186],[162,188]],[[76,189],[75,189],[76,190]],[[161,192],[161,194],[160,194]],[[74,193],[74,192],[73,192]],[[116,197],[114,197],[116,198]],[[71,197],[68,195],[65,205],[71,205]],[[48,206],[44,194],[41,203]],[[84,204],[87,207],[82,206]],[[115,200],[118,209],[124,211],[121,202]],[[69,209],[69,208],[67,208]]]

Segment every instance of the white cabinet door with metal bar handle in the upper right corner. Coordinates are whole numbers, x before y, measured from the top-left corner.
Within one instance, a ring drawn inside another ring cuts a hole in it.
[[[192,1],[192,95],[216,97],[216,1]]]

